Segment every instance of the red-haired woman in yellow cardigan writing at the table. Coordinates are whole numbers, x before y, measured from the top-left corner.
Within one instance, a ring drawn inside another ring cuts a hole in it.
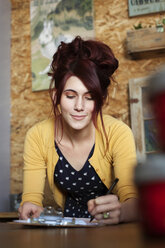
[[[136,219],[133,135],[126,124],[102,114],[117,67],[102,42],[76,37],[59,46],[51,67],[54,117],[32,127],[25,140],[21,219],[43,211],[46,176],[64,216],[94,216],[105,224]],[[105,195],[114,177],[115,194]]]

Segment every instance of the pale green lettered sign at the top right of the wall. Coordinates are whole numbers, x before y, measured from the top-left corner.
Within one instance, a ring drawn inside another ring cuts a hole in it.
[[[128,0],[129,16],[165,11],[165,0]]]

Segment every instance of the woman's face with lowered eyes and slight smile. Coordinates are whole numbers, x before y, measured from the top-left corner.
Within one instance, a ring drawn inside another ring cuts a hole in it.
[[[82,81],[71,76],[61,95],[60,108],[64,122],[75,130],[86,128],[92,122],[94,100]]]

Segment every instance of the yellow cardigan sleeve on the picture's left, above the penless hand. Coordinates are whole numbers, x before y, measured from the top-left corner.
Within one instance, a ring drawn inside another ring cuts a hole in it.
[[[22,202],[42,206],[46,177],[44,145],[39,125],[27,132],[24,144],[23,195]]]

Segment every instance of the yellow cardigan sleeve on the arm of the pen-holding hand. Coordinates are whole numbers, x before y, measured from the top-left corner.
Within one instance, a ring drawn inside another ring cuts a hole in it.
[[[126,125],[115,129],[112,146],[114,176],[119,178],[116,187],[121,202],[129,198],[137,198],[134,184],[134,167],[136,165],[136,149],[132,130]]]

